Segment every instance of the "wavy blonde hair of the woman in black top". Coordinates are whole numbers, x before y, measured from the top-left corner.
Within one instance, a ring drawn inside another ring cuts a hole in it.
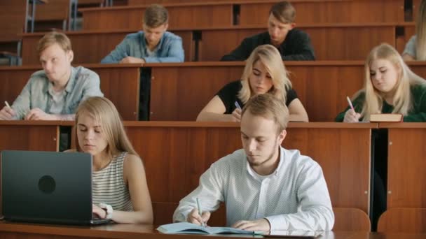
[[[250,87],[249,77],[257,61],[263,63],[272,79],[273,87],[268,93],[273,94],[277,99],[285,102],[287,99],[287,90],[291,89],[291,81],[282,63],[280,52],[278,52],[277,48],[273,45],[259,45],[253,50],[249,59],[247,59],[241,77],[242,88],[240,92],[238,92],[238,98],[245,104],[252,96],[253,92]]]

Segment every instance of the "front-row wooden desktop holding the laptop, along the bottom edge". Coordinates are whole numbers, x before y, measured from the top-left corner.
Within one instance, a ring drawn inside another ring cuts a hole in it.
[[[59,226],[0,222],[1,238],[144,238],[144,239],[202,239],[200,235],[169,235],[158,233],[153,225],[111,224],[104,226]],[[424,233],[366,233],[349,231],[324,232],[322,239],[422,239]],[[210,237],[210,236],[209,236]],[[214,238],[262,238],[262,236],[215,235]]]

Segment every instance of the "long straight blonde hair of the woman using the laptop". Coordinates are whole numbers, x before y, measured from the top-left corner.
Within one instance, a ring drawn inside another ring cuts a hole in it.
[[[138,155],[125,133],[123,122],[114,103],[109,101],[109,99],[93,96],[83,101],[77,108],[76,125],[78,124],[78,118],[83,114],[89,114],[101,125],[102,134],[108,143],[107,154],[110,159],[113,159],[120,152]],[[76,142],[76,145],[77,150],[81,152],[78,142]]]

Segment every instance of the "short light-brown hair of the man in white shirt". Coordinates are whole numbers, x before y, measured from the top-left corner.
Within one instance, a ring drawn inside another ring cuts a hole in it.
[[[284,102],[277,99],[272,94],[258,94],[253,96],[242,108],[241,117],[246,111],[252,115],[261,116],[266,119],[273,119],[277,125],[277,132],[287,129],[289,123],[289,110]]]

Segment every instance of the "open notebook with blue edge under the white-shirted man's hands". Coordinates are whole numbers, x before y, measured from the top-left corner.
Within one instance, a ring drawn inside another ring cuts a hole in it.
[[[198,226],[189,222],[178,222],[158,226],[160,233],[174,234],[261,234],[258,231],[245,231],[231,227]]]

